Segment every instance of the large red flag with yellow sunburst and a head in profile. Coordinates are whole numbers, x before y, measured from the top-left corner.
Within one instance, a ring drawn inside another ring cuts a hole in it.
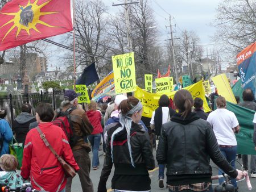
[[[0,18],[0,51],[73,30],[71,0],[13,0]]]

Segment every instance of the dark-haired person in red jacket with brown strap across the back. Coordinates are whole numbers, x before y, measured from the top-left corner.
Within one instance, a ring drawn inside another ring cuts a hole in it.
[[[36,120],[49,144],[76,171],[79,170],[67,137],[60,127],[51,123],[54,112],[48,103],[36,107]],[[65,191],[67,179],[60,162],[53,155],[39,132],[34,128],[27,133],[24,145],[21,176],[30,177],[32,187],[36,190]]]

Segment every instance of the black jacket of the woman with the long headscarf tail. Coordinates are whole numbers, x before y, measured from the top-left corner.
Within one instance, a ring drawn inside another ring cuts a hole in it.
[[[104,168],[101,171],[98,191],[106,191],[106,181],[112,170],[113,163],[115,165],[115,170],[112,179],[112,189],[138,191],[150,190],[148,170],[155,168],[155,160],[152,154],[148,133],[143,131],[140,125],[132,122],[130,142],[135,164],[134,168],[131,165],[126,130],[115,135],[112,162],[110,140],[113,132],[118,127],[121,127],[120,123],[108,130],[106,157],[104,160]]]

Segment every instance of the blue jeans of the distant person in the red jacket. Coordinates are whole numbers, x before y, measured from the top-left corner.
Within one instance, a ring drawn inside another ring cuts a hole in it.
[[[100,161],[98,160],[98,148],[100,148],[101,143],[101,133],[95,134],[95,135],[89,135],[88,139],[90,141],[90,144],[92,145],[92,152],[93,152],[93,160],[92,160],[92,166],[98,166],[100,165]]]

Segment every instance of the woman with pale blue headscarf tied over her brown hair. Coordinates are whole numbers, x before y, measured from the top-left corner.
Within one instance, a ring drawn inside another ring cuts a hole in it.
[[[155,168],[148,133],[141,127],[142,103],[134,97],[123,100],[119,123],[108,130],[106,157],[98,192],[106,192],[106,181],[115,165],[112,178],[114,191],[149,191],[148,170]]]

